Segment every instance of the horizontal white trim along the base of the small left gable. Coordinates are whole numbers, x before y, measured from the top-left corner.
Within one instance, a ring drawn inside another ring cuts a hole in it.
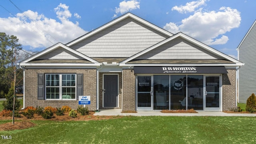
[[[100,63],[81,64],[81,63],[20,63],[20,66],[100,66]]]

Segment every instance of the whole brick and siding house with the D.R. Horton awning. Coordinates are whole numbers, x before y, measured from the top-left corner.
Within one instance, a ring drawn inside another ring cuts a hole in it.
[[[20,62],[24,107],[77,108],[78,96],[90,96],[90,110],[137,111],[228,110],[236,106],[239,66],[131,13]]]

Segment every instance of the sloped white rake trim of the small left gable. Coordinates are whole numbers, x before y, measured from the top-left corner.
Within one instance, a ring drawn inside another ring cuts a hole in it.
[[[20,65],[24,66],[25,63],[28,63],[28,62],[33,61],[33,60],[36,60],[40,56],[43,56],[43,55],[45,55],[45,54],[47,54],[49,52],[52,52],[53,50],[56,50],[58,48],[64,48],[65,50],[68,50],[69,52],[71,52],[71,53],[73,53],[73,54],[75,54],[77,56],[80,56],[80,57],[84,58],[85,60],[88,60],[88,61],[90,61],[92,63],[95,63],[95,64],[97,64],[97,63],[100,64],[98,61],[96,61],[96,60],[94,60],[94,59],[92,59],[92,58],[90,58],[90,57],[88,57],[88,56],[86,56],[86,55],[76,51],[76,50],[73,50],[72,48],[69,48],[68,46],[66,46],[66,45],[64,45],[62,43],[57,43],[57,44],[55,44],[55,45],[53,45],[53,46],[51,46],[49,48],[46,48],[45,50],[43,50],[43,51],[33,55],[33,56],[31,56],[31,57],[21,61]]]

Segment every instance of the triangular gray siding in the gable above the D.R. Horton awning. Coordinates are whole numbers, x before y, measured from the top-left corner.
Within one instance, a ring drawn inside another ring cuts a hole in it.
[[[184,40],[183,38],[175,38],[139,56],[136,59],[221,59],[213,55],[211,52]]]

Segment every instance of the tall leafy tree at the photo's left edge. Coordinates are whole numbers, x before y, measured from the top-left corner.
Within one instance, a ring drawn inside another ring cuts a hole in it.
[[[16,36],[0,32],[0,98],[5,97],[11,87],[11,82],[14,81],[16,55],[21,49]]]

